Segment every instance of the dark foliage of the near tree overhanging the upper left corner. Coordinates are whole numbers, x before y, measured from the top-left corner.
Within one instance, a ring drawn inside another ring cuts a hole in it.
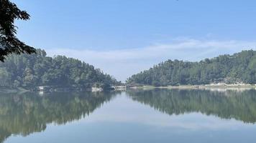
[[[4,61],[9,54],[32,54],[36,50],[17,39],[15,19],[28,20],[29,14],[20,10],[9,0],[0,0],[0,61]]]

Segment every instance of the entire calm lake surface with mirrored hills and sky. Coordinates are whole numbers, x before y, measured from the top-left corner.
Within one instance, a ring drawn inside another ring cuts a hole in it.
[[[1,94],[0,142],[255,142],[256,90]]]

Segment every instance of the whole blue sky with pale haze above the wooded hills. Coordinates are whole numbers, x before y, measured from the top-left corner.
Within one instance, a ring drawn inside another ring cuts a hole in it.
[[[124,81],[166,59],[256,49],[254,0],[12,0],[31,15],[20,39]]]

